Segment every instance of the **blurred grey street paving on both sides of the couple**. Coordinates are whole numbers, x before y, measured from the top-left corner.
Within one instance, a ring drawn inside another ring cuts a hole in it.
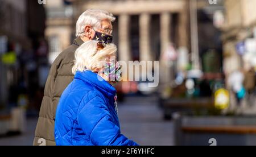
[[[173,124],[163,121],[157,97],[127,97],[118,104],[121,132],[140,145],[173,145]],[[27,121],[26,133],[15,137],[0,137],[2,145],[32,145],[37,118]]]

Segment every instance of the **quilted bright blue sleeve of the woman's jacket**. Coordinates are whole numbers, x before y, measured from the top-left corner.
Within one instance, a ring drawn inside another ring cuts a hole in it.
[[[88,102],[82,100],[81,103]],[[121,134],[100,97],[94,96],[79,111],[78,122],[96,146],[137,146]]]

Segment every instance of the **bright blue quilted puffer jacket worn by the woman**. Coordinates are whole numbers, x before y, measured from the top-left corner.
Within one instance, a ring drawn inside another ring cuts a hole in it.
[[[77,72],[56,110],[59,146],[136,146],[120,132],[114,109],[116,90],[96,73]]]

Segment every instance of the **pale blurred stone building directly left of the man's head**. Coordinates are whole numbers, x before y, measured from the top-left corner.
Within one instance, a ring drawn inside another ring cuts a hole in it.
[[[47,1],[46,38],[49,45],[49,63],[51,64],[61,51],[67,48],[75,38],[73,26],[73,6],[63,0]]]

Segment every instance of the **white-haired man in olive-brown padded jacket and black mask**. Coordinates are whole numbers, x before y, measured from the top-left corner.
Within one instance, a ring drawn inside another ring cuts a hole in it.
[[[44,141],[46,145],[56,144],[55,112],[61,94],[74,77],[72,74],[74,53],[82,43],[88,40],[98,40],[105,44],[112,43],[112,22],[114,20],[114,16],[104,10],[86,10],[80,15],[76,23],[77,38],[71,46],[60,53],[49,72],[35,130],[34,145],[42,144]]]

